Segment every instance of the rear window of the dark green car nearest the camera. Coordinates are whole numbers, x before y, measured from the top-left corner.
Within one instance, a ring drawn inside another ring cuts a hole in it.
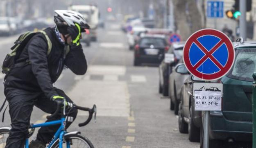
[[[235,63],[227,76],[243,81],[254,81],[252,78],[254,72],[256,72],[256,49],[237,49]]]

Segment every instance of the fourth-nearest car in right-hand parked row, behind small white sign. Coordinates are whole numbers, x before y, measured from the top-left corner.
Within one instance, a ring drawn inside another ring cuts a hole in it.
[[[170,63],[163,60],[159,65],[159,93],[163,93],[163,96],[168,96],[169,94],[169,75],[172,73],[172,67],[177,65],[177,62],[181,59],[183,47],[184,42],[173,43],[167,54],[172,54],[174,61]]]

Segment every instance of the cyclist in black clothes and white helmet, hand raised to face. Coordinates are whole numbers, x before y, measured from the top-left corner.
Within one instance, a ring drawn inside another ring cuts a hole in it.
[[[49,40],[42,33],[37,33],[16,59],[16,63],[29,61],[28,64],[14,66],[5,78],[4,92],[9,102],[11,117],[11,132],[6,148],[24,148],[34,105],[52,114],[57,108],[54,100],[65,98],[68,102],[72,102],[62,90],[53,87],[64,66],[78,75],[86,73],[86,58],[79,39],[81,32],[90,28],[89,25],[82,14],[75,11],[56,10],[54,12],[56,26],[44,30],[52,44],[50,53],[47,53]],[[70,50],[66,54],[68,46]],[[68,111],[69,117],[74,120],[77,110]],[[46,122],[57,119],[60,117]],[[71,123],[67,122],[66,127]],[[29,144],[29,148],[45,148],[58,127],[59,125],[40,128],[36,139]]]

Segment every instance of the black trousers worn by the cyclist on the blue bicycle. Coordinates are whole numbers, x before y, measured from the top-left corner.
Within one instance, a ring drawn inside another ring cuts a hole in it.
[[[56,88],[56,91],[60,96],[66,98],[68,102],[72,102],[71,99],[62,91]],[[17,95],[18,94],[18,95]],[[7,101],[9,102],[9,113],[11,117],[11,132],[7,138],[7,144],[5,148],[24,148],[25,139],[28,135],[28,128],[30,125],[30,116],[35,105],[46,113],[52,114],[55,112],[57,105],[46,98],[41,92],[25,92],[16,89],[5,89],[5,95],[7,96]],[[73,117],[75,120],[77,116],[77,109],[68,109],[68,116]],[[48,121],[59,120],[61,118],[61,113],[54,119],[48,119]],[[73,121],[74,121],[73,120]],[[66,128],[70,126],[71,122],[67,122]],[[54,133],[58,130],[59,125],[41,127],[37,134],[37,139],[47,144],[50,142]]]

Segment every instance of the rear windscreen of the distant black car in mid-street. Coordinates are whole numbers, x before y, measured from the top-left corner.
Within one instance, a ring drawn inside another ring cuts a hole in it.
[[[143,38],[140,41],[140,46],[147,47],[154,45],[155,47],[165,47],[165,41],[163,38]]]

